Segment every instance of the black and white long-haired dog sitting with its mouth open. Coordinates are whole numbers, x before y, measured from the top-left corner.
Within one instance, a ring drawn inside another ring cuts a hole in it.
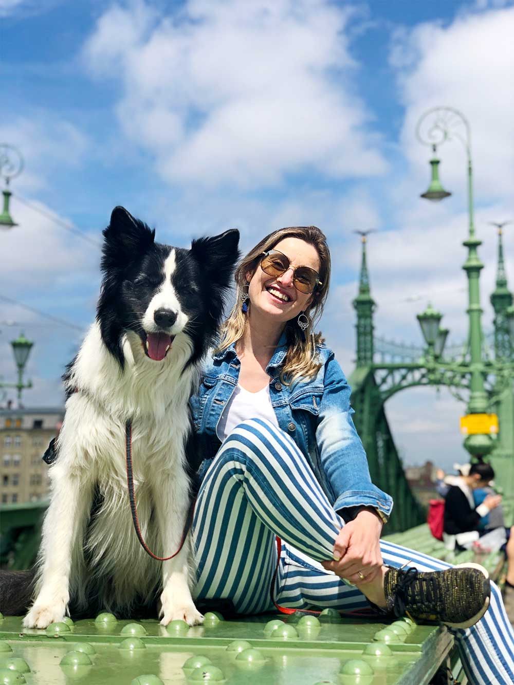
[[[189,250],[160,245],[154,234],[121,207],[103,232],[97,319],[64,376],[69,398],[25,627],[62,621],[71,601],[85,607],[95,597],[116,612],[136,597],[151,603],[160,588],[162,625],[202,621],[188,540],[161,564],[136,538],[125,422],[132,421],[140,530],[150,549],[169,556],[189,506],[188,400],[223,315],[239,234],[193,240]]]

